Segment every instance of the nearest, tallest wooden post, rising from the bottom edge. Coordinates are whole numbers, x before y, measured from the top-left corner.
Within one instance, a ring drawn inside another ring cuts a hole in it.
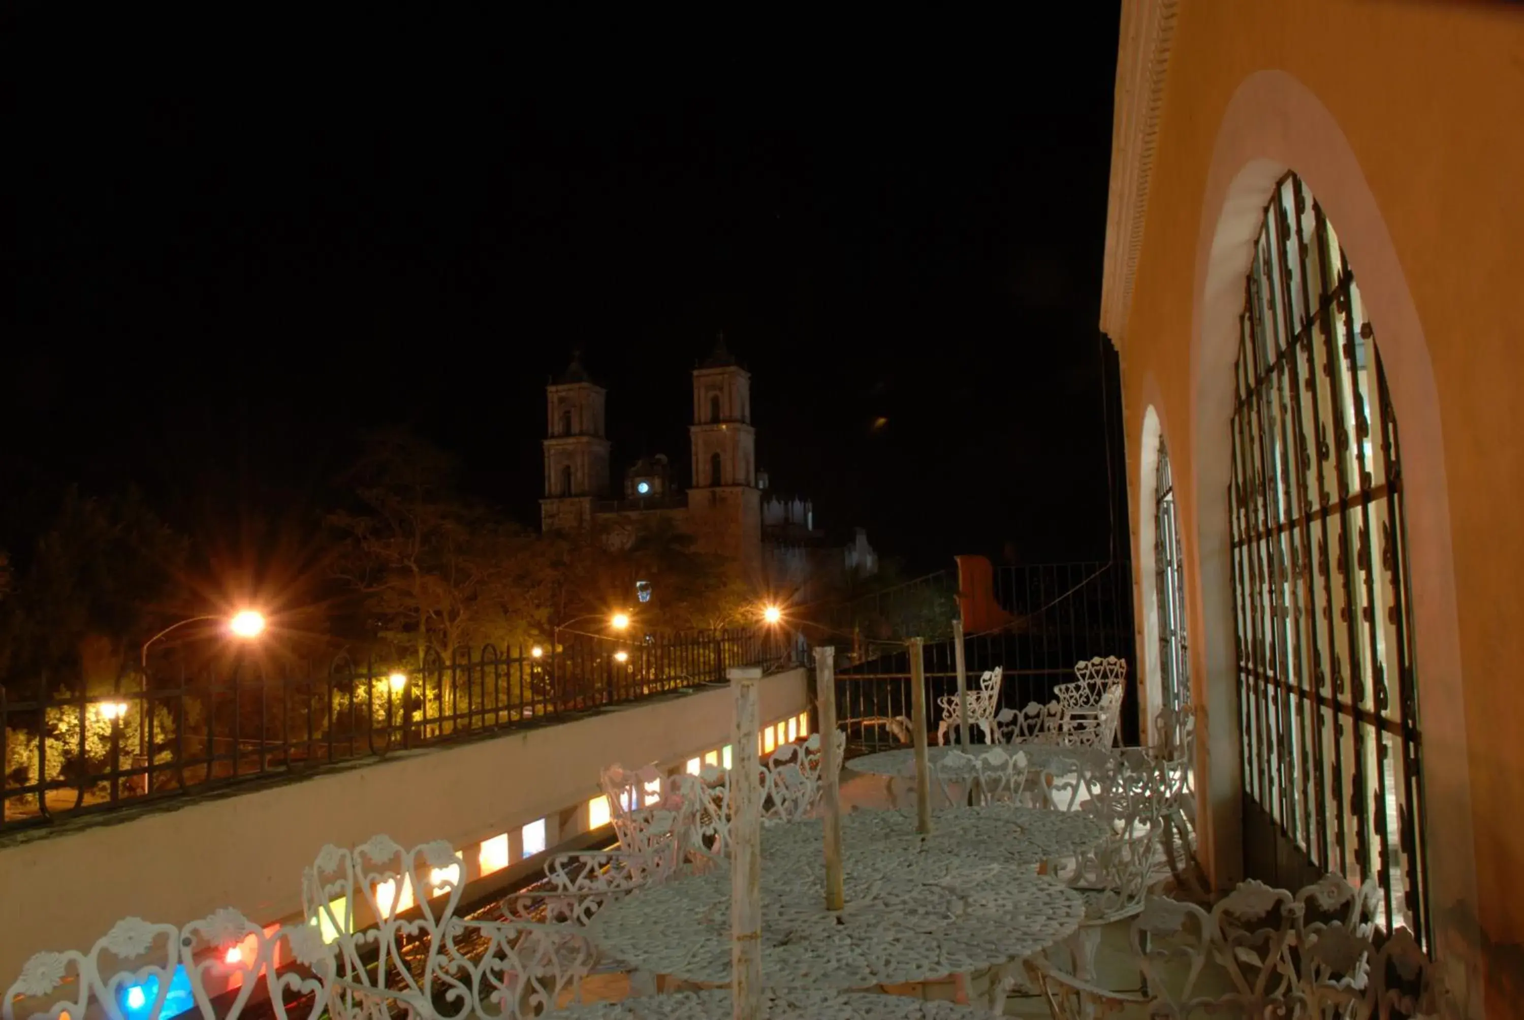
[[[735,1020],[762,1015],[762,784],[757,778],[760,666],[732,666],[736,724],[730,746],[730,994]]]

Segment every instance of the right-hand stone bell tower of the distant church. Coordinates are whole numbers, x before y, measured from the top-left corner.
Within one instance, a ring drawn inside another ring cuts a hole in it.
[[[756,483],[751,374],[725,348],[724,334],[693,369],[693,424],[687,431],[693,471],[687,517],[696,546],[732,557],[744,578],[759,579],[762,492]]]

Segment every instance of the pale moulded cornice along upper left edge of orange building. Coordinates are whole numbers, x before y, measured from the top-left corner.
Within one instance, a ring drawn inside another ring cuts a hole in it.
[[[1111,114],[1111,195],[1100,329],[1122,349],[1132,306],[1132,276],[1143,250],[1154,145],[1175,35],[1177,0],[1122,0],[1116,105]]]

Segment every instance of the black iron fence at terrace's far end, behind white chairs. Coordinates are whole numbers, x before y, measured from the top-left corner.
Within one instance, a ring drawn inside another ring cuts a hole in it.
[[[1074,678],[1074,663],[1117,656],[1134,675],[1132,567],[1117,563],[1006,566],[995,570],[995,598],[1012,619],[1000,630],[963,639],[968,688],[1001,666],[1000,704],[1021,709],[1047,703],[1053,686]],[[878,654],[837,669],[837,715],[849,753],[872,753],[910,741],[910,657],[904,639],[882,642]],[[925,643],[927,723],[936,739],[937,698],[957,694],[957,660],[949,639]],[[1135,741],[1137,694],[1128,685],[1122,735]],[[952,739],[949,735],[948,739]],[[978,733],[974,739],[981,739]]]

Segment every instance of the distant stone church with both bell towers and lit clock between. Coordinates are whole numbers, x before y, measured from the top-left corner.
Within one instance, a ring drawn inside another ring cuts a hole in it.
[[[654,515],[671,517],[693,535],[695,549],[727,557],[759,593],[796,601],[849,570],[876,573],[878,555],[863,529],[855,529],[850,541],[832,541],[815,528],[809,500],[768,491],[767,473],[756,460],[751,374],[724,337],[693,369],[689,485],[657,454],[629,465],[620,489],[613,491],[607,396],[576,357],[546,387],[544,532],[597,523],[617,534],[620,526],[632,531]]]

